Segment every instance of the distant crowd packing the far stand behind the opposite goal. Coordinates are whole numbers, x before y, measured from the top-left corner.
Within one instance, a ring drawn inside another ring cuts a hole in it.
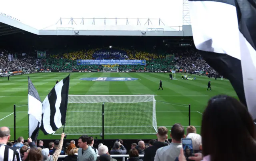
[[[170,71],[182,70],[192,74],[215,75],[216,72],[201,58],[194,48],[178,48],[170,50],[174,59],[167,60],[166,54],[137,51],[129,49],[90,49],[69,52],[49,52],[46,59],[37,59],[36,54],[21,56],[6,50],[0,51],[0,72],[31,71],[31,70],[103,70],[115,68],[119,70],[151,70]],[[10,56],[11,58],[10,59]],[[146,65],[77,65],[76,60],[146,60]]]

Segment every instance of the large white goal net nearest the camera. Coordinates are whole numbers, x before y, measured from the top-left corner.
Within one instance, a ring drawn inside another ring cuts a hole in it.
[[[102,132],[102,108],[106,135],[157,132],[154,95],[69,95],[65,134],[99,135]],[[62,132],[63,126],[54,134]]]

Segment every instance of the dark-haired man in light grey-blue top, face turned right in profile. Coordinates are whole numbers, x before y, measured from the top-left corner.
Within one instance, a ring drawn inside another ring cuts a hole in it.
[[[78,139],[78,161],[96,161],[97,156],[95,151],[91,146],[87,144],[89,137],[87,135],[82,135]]]

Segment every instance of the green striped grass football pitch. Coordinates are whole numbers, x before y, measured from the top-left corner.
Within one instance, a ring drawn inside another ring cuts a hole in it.
[[[190,75],[190,74],[189,74]],[[14,132],[13,105],[16,104],[16,138],[28,136],[28,76],[34,83],[42,99],[50,92],[56,80],[62,80],[68,73],[36,73],[0,78],[0,126],[8,126],[11,139]],[[191,78],[194,78],[192,75]],[[131,77],[137,81],[82,81],[88,77]],[[196,76],[196,80],[169,80],[164,73],[71,73],[69,94],[73,95],[134,95],[153,94],[156,102],[156,119],[158,126],[171,129],[174,123],[188,126],[188,104],[191,104],[191,125],[200,133],[202,112],[208,99],[217,94],[227,94],[237,98],[228,80],[214,80],[204,76]],[[164,90],[158,90],[159,81],[163,81]],[[212,91],[206,91],[208,81],[212,81]],[[140,107],[138,107],[140,108]],[[113,116],[115,116],[114,114]],[[98,116],[99,119],[101,115]],[[134,115],[130,115],[134,117]],[[113,118],[114,119],[114,118]],[[146,120],[141,120],[145,122]],[[118,123],[118,121],[117,121]],[[77,123],[81,125],[81,123]],[[83,123],[86,125],[86,123]],[[99,135],[93,135],[100,138]],[[79,135],[68,135],[67,139],[76,139]],[[39,133],[39,139],[59,139],[59,135]],[[153,139],[155,135],[105,135],[105,139]]]

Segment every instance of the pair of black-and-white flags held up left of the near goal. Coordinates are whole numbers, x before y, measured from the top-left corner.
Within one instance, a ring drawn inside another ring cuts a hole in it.
[[[66,121],[70,75],[56,84],[43,103],[28,78],[29,137],[36,140],[39,129],[45,135],[54,133]]]

